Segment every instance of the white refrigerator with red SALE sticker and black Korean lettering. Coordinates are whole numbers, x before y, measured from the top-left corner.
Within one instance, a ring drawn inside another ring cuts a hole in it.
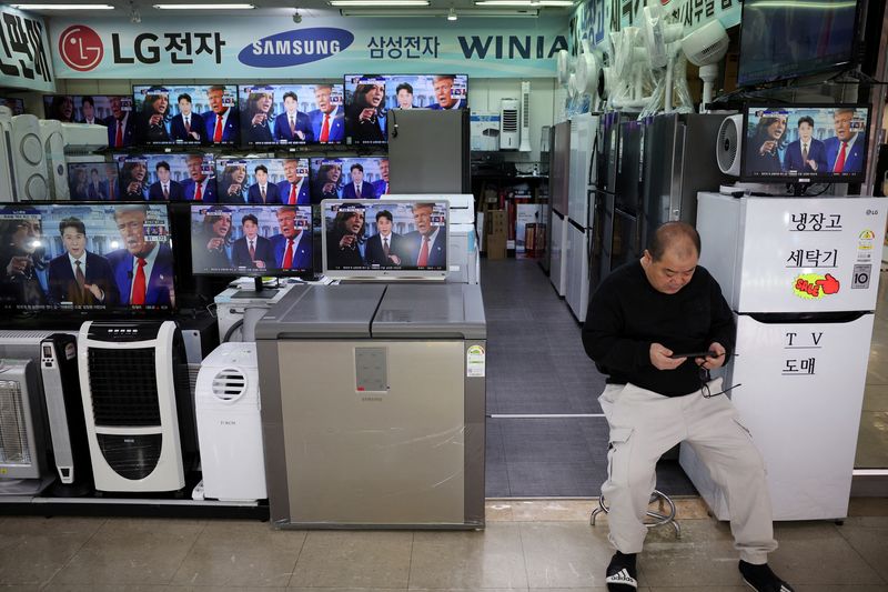
[[[847,515],[886,209],[884,198],[698,194],[700,264],[737,320],[725,387],[764,456],[775,520]],[[692,446],[680,463],[729,519]]]

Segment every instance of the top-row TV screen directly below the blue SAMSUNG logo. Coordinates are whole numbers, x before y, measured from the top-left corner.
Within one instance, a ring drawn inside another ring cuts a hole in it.
[[[342,84],[241,86],[245,147],[334,144],[345,139]]]

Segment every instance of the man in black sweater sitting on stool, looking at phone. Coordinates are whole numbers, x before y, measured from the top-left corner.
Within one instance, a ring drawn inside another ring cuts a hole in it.
[[[598,400],[610,427],[602,495],[617,552],[605,581],[610,591],[637,588],[635,558],[657,460],[686,441],[725,491],[744,581],[760,592],[791,592],[767,564],[777,542],[761,455],[722,379],[709,379],[730,355],[736,328],[718,283],[697,264],[699,253],[693,227],[667,222],[640,261],[612,273],[589,302],[583,345],[607,374]]]

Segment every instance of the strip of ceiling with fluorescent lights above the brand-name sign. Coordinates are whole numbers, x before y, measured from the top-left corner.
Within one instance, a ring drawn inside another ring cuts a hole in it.
[[[175,0],[20,0],[23,2],[51,2],[58,4],[82,4],[82,3],[108,3],[114,7],[113,10],[36,10],[29,9],[29,12],[44,14],[51,17],[53,14],[64,16],[89,16],[94,17],[131,17],[133,10],[138,11],[142,18],[151,16],[183,16],[183,14],[206,14],[208,10],[158,10],[153,8],[157,3],[172,3]],[[185,0],[188,3],[194,4],[216,4],[224,2],[249,2],[256,7],[253,10],[214,10],[219,14],[240,14],[240,16],[293,16],[295,10],[304,19],[321,18],[321,17],[335,17],[340,14],[339,8],[333,8],[329,4],[327,0],[294,0],[281,2],[280,0]],[[13,3],[14,2],[10,2]],[[430,0],[428,7],[423,8],[390,8],[390,7],[362,7],[360,9],[343,9],[345,16],[356,16],[359,13],[376,12],[373,16],[385,17],[417,17],[417,16],[442,16],[453,8],[458,16],[462,17],[482,17],[482,16],[566,16],[573,12],[572,7],[477,7],[474,0]]]

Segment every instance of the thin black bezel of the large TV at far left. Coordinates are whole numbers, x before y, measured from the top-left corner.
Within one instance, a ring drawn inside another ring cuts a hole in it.
[[[158,319],[158,318],[170,318],[179,312],[180,310],[180,297],[176,295],[178,287],[181,281],[178,278],[178,265],[176,265],[176,249],[173,247],[175,237],[172,232],[172,212],[170,211],[169,202],[167,201],[155,201],[155,202],[148,202],[148,201],[97,201],[97,200],[47,200],[47,201],[0,201],[0,209],[3,209],[8,205],[20,207],[20,208],[32,208],[32,207],[42,207],[42,205],[153,205],[163,208],[167,210],[167,228],[170,230],[168,241],[170,245],[170,250],[173,254],[173,300],[170,304],[170,308],[151,308],[144,309],[139,308],[134,309],[131,305],[127,307],[115,307],[115,308],[105,308],[105,309],[82,309],[82,308],[73,308],[73,307],[58,307],[58,308],[46,308],[40,310],[24,310],[21,308],[8,308],[3,304],[0,304],[0,312],[18,315],[20,318],[23,317],[31,317],[36,314],[43,314],[48,313],[54,319],[84,319],[84,320],[107,320],[107,319],[121,319],[124,317],[138,317],[138,318],[150,318],[150,319]],[[44,233],[46,235],[46,233]]]

